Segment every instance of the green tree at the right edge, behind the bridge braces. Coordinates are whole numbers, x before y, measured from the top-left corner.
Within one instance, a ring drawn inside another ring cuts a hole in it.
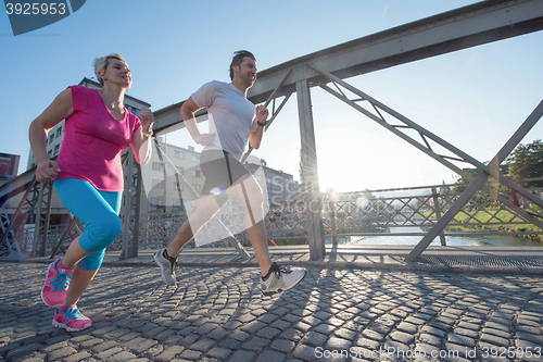
[[[505,160],[509,166],[509,178],[530,178],[543,176],[543,142],[536,139],[528,145],[519,145]],[[543,187],[543,180],[519,182],[521,187]]]

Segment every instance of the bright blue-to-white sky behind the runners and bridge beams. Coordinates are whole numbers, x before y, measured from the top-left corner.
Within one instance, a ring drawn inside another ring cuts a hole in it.
[[[26,170],[28,125],[65,87],[92,77],[92,60],[128,62],[129,95],[156,111],[202,84],[228,82],[235,50],[260,70],[464,7],[470,0],[94,0],[73,15],[14,37],[0,14],[0,152]],[[543,32],[374,72],[349,83],[481,162],[490,160],[543,98]],[[452,171],[319,89],[312,90],[320,188],[338,191],[449,183]],[[194,146],[180,137],[168,142]],[[186,136],[186,135],[185,135]],[[522,140],[543,138],[543,122]],[[181,143],[182,142],[182,143]],[[289,100],[253,154],[299,179],[300,130]]]

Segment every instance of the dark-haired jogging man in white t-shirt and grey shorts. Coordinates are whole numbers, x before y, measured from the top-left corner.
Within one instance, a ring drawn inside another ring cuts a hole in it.
[[[241,50],[235,52],[230,63],[231,83],[213,80],[203,85],[181,105],[181,117],[191,137],[204,146],[200,168],[205,183],[198,204],[181,225],[177,235],[154,260],[167,285],[175,285],[177,254],[182,247],[217,213],[228,197],[245,205],[244,226],[261,267],[261,288],[265,294],[287,290],[305,276],[304,269],[287,270],[269,258],[264,225],[264,197],[262,188],[240,159],[248,141],[258,149],[264,136],[268,110],[255,107],[247,99],[247,90],[256,80],[254,55]],[[194,113],[206,108],[210,133],[201,134]]]

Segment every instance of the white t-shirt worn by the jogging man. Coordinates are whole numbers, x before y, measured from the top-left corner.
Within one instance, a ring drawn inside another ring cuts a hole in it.
[[[225,150],[240,159],[249,134],[256,130],[256,107],[231,83],[212,80],[192,93],[198,107],[210,115],[210,134],[216,134],[206,150]]]

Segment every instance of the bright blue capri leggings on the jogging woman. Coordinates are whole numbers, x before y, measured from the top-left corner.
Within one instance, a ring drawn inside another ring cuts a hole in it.
[[[85,224],[79,246],[93,252],[81,259],[77,266],[86,271],[100,269],[105,248],[123,228],[118,219],[123,192],[97,190],[90,183],[76,178],[55,179],[54,188],[64,207]]]

